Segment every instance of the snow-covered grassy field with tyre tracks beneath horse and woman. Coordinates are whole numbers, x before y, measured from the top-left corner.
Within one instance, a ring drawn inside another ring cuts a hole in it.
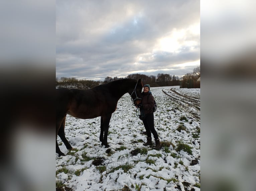
[[[67,154],[56,154],[59,190],[200,190],[200,89],[174,86],[150,91],[158,106],[155,128],[163,147],[143,146],[145,129],[129,94],[120,98],[110,120],[109,148],[99,141],[100,117],[67,115],[66,137],[76,150],[67,150],[57,138]],[[178,127],[183,129],[179,132]]]

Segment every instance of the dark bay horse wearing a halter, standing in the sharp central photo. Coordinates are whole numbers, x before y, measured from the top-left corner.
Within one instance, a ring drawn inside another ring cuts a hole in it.
[[[118,100],[126,93],[131,95],[134,105],[141,102],[141,79],[121,79],[99,85],[89,90],[70,88],[56,89],[56,153],[65,156],[59,149],[57,135],[61,138],[67,149],[73,149],[65,137],[66,115],[81,119],[91,119],[101,116],[101,145],[109,147],[107,143],[109,122],[112,113],[117,108]]]

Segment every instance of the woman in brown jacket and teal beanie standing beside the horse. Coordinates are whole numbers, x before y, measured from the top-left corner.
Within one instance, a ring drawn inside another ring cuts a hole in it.
[[[160,140],[158,138],[158,134],[154,127],[154,113],[153,113],[153,107],[154,107],[154,97],[152,93],[150,92],[150,85],[146,84],[143,87],[142,92],[142,101],[137,106],[140,109],[140,119],[142,120],[147,134],[147,142],[144,143],[144,146],[152,145],[152,138],[151,133],[154,136],[155,139],[155,148],[159,149],[161,148]]]

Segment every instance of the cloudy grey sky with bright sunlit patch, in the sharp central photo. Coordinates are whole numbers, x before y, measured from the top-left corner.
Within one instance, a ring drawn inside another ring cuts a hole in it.
[[[200,65],[200,1],[56,1],[56,78],[183,76]]]

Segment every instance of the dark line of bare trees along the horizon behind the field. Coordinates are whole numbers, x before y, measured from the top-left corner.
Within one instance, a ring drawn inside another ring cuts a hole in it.
[[[147,76],[145,74],[129,74],[125,78],[141,79],[143,84],[150,84],[151,87],[162,86],[180,86],[180,88],[200,88],[200,66],[194,68],[193,73],[187,73],[183,77],[171,76],[169,74],[157,74],[157,76]],[[78,88],[91,89],[95,86],[106,84],[114,80],[123,79],[107,76],[104,81],[78,80],[76,78],[56,78],[56,87],[58,88]]]

